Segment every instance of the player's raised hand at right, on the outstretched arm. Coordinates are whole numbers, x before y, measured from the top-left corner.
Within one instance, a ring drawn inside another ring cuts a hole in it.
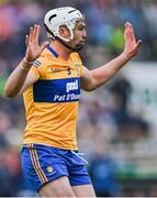
[[[136,41],[133,25],[130,22],[125,23],[124,40],[125,46],[123,54],[125,54],[127,58],[132,58],[137,54],[142,41]]]

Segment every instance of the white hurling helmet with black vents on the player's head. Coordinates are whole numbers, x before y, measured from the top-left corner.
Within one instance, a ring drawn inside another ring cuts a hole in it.
[[[70,42],[74,38],[74,29],[78,20],[83,20],[83,15],[79,10],[71,7],[63,7],[49,10],[44,18],[44,24],[54,36],[59,37],[65,42]],[[70,31],[70,37],[65,38],[59,35],[59,26],[67,25]]]

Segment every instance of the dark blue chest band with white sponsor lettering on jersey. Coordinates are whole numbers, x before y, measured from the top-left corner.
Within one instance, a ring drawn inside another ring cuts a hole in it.
[[[33,85],[35,102],[70,102],[78,101],[80,96],[80,78],[38,80]]]

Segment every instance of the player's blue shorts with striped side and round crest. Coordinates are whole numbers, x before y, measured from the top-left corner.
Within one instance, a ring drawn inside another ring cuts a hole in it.
[[[70,150],[26,144],[22,146],[21,163],[24,175],[36,191],[61,176],[67,176],[71,186],[91,184],[86,161]]]

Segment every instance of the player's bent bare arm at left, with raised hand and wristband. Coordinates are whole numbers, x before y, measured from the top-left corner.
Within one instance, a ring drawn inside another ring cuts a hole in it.
[[[46,43],[44,43],[42,46],[38,45],[40,32],[40,25],[35,24],[34,28],[30,28],[30,33],[25,37],[25,57],[16,66],[7,80],[4,87],[4,95],[7,97],[16,97],[30,85],[35,82],[36,78],[31,72],[31,67],[33,66],[33,62],[41,55],[46,46]]]

